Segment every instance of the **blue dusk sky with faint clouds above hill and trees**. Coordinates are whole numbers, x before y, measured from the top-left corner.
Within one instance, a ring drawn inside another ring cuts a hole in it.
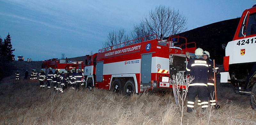
[[[134,24],[158,5],[184,14],[188,30],[237,18],[255,0],[0,0],[0,36],[12,37],[14,55],[34,61],[98,52],[108,32]]]

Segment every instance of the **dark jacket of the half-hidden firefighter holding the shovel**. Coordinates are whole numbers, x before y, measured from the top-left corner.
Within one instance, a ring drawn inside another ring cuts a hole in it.
[[[208,73],[208,83],[207,85],[214,85],[214,73],[212,72],[213,70],[213,61],[211,59],[206,60],[207,63],[209,64],[209,73]],[[217,64],[215,64],[215,69],[217,70],[216,74],[219,73],[219,67]]]

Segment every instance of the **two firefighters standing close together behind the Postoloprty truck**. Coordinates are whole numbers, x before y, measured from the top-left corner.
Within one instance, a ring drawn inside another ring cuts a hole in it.
[[[197,48],[195,55],[196,57],[192,59],[189,53],[186,53],[189,60],[186,68],[187,74],[194,77],[188,89],[187,112],[194,111],[196,96],[199,98],[197,105],[201,105],[203,111],[208,107],[208,99],[210,100],[210,105],[217,109],[220,106],[216,105],[214,96],[214,72],[219,73],[219,68],[209,58],[210,53],[208,51]],[[213,67],[214,65],[215,67]]]

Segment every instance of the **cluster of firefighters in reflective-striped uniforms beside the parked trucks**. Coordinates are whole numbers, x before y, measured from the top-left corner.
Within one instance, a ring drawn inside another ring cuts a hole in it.
[[[39,73],[41,88],[53,88],[61,93],[66,88],[78,89],[80,85],[84,85],[83,78],[83,71],[81,69],[78,69],[77,73],[75,69],[70,70],[69,73],[67,70],[61,72],[55,69],[53,73],[52,68],[49,68],[47,76],[44,73],[44,69],[40,70]]]

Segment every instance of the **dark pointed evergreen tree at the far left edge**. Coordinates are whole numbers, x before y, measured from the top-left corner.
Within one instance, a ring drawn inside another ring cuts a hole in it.
[[[3,59],[6,59],[6,61],[12,61],[12,57],[14,57],[12,51],[15,51],[15,49],[12,49],[11,40],[12,39],[10,33],[8,33],[8,35],[4,39],[4,42],[1,45],[1,56]]]

